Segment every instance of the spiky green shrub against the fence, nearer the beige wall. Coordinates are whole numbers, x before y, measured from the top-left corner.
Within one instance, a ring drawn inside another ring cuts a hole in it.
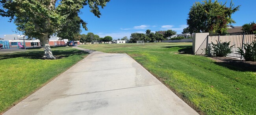
[[[214,55],[216,55],[217,57],[226,57],[229,53],[232,53],[231,48],[233,46],[230,46],[230,42],[217,42],[217,44],[213,44],[213,42],[211,42],[212,45],[212,52]]]

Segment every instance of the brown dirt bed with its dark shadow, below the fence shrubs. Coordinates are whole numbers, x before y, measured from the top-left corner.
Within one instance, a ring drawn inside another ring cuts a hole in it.
[[[256,72],[256,62],[250,62],[230,57],[208,57],[215,61],[215,64],[236,71],[252,71]]]

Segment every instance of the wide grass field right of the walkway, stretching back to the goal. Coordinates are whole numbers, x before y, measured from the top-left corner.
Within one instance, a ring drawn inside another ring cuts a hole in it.
[[[191,53],[192,43],[91,44],[106,53],[127,53],[201,114],[255,114],[256,71]]]

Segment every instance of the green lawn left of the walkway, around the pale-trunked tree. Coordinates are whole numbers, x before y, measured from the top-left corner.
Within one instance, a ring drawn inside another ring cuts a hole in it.
[[[53,48],[52,52],[58,59],[41,59],[42,50],[0,54],[0,113],[87,55],[65,47]]]

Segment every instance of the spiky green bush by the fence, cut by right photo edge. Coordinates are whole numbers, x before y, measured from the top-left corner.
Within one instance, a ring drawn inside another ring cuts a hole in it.
[[[238,54],[242,55],[246,61],[256,61],[256,41],[250,44],[243,44],[245,52],[243,49],[238,48]]]

